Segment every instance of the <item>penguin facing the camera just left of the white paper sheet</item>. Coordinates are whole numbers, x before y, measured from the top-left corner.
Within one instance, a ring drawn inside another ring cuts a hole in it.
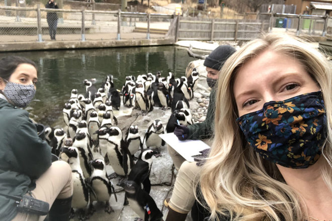
[[[159,137],[160,134],[164,134],[164,128],[160,120],[154,120],[145,132],[143,142],[147,148],[156,147],[159,148],[165,145],[165,142]]]

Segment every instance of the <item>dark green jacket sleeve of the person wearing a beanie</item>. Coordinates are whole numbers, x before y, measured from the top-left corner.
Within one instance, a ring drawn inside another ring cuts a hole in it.
[[[210,93],[210,103],[206,113],[206,119],[202,123],[189,125],[188,139],[202,140],[211,138],[214,133],[214,109],[215,109],[215,88]]]

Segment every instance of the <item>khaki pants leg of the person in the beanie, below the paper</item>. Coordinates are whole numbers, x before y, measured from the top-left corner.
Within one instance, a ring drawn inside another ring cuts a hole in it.
[[[197,162],[186,161],[169,145],[167,145],[167,148],[175,168],[179,171],[169,207],[180,213],[188,213],[195,202],[194,187],[202,167],[197,166]]]

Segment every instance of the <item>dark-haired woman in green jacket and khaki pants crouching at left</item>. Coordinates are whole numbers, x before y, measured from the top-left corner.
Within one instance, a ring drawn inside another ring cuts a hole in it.
[[[32,196],[48,202],[50,220],[68,220],[72,196],[71,170],[51,163],[51,148],[40,139],[27,106],[36,92],[36,64],[24,57],[0,60],[0,193]],[[43,220],[25,213],[16,200],[0,195],[1,220]]]

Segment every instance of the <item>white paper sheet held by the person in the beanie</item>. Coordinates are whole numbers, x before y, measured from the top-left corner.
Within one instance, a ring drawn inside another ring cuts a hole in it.
[[[174,133],[160,134],[159,137],[189,162],[194,161],[192,156],[200,155],[200,151],[210,148],[201,140],[180,141]]]

